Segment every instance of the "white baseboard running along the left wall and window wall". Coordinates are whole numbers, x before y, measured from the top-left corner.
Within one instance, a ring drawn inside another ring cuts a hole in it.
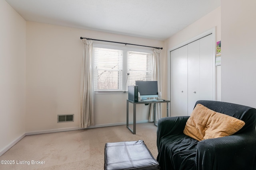
[[[141,120],[136,121],[136,123],[147,123],[148,120]],[[129,122],[129,124],[132,124],[132,121]],[[108,123],[108,124],[101,124],[101,125],[91,125],[87,128],[80,128],[80,127],[68,127],[68,128],[60,128],[60,129],[49,129],[44,131],[32,131],[27,132],[12,141],[8,146],[6,146],[4,149],[0,150],[0,156],[4,154],[7,150],[9,150],[11,147],[13,147],[16,143],[18,143],[22,138],[24,138],[27,135],[38,135],[38,134],[44,134],[44,133],[55,133],[55,132],[65,132],[65,131],[75,131],[80,129],[92,129],[92,128],[98,128],[98,127],[109,127],[109,126],[119,126],[119,125],[126,125],[126,122],[120,122],[120,123]]]

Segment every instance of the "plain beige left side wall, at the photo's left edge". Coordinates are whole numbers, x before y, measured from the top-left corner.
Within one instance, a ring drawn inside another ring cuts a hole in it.
[[[26,21],[0,0],[0,155],[25,134]]]

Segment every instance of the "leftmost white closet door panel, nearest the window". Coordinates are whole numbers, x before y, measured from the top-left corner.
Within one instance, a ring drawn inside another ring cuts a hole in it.
[[[171,51],[171,116],[188,115],[188,45]]]

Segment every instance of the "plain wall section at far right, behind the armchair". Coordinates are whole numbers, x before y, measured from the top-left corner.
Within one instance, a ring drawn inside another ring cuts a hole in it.
[[[256,1],[221,1],[222,100],[256,107]]]

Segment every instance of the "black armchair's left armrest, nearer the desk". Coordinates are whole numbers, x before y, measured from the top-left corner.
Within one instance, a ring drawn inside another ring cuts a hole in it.
[[[157,147],[163,137],[183,133],[189,116],[164,117],[158,120]]]

